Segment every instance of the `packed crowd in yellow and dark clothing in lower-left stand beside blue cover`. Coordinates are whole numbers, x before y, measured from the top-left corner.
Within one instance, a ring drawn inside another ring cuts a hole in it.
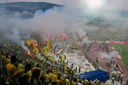
[[[51,47],[49,44],[46,46]],[[36,47],[37,45],[32,49]],[[106,85],[99,80],[79,79],[77,76],[78,68],[73,69],[73,65],[69,67],[68,62],[64,61],[64,57],[60,55],[59,61],[52,59],[49,62],[50,57],[46,57],[46,54],[47,52],[41,54],[44,56],[43,59],[37,56],[33,57],[30,54],[29,57],[0,55],[2,58],[0,85]]]

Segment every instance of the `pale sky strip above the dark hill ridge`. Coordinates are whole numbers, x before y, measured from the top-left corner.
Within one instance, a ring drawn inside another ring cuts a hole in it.
[[[0,0],[0,3],[3,2],[50,2],[50,3],[56,3],[56,4],[63,4],[63,5],[72,5],[72,6],[80,6],[81,3],[87,0]],[[96,1],[96,0],[94,0]],[[121,9],[121,10],[128,10],[128,0],[102,0],[105,3],[105,6],[115,8],[115,9]]]

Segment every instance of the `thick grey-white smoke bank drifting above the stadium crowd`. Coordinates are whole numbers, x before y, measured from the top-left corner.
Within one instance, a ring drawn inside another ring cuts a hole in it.
[[[83,35],[86,32],[88,37],[94,40],[127,40],[127,17],[121,16],[116,11],[107,7],[89,9],[86,6],[67,4],[62,8],[49,9],[46,13],[39,10],[29,19],[1,15],[1,38],[20,40],[22,35],[30,35],[33,32],[55,35],[60,33]]]

